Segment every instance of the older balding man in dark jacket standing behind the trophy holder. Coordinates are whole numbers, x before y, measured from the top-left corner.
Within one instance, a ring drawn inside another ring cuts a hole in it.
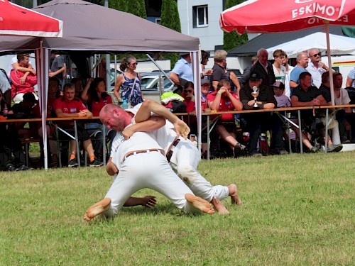
[[[272,87],[276,80],[273,65],[268,62],[268,51],[261,48],[256,53],[256,56],[258,57],[258,62],[251,67],[250,72],[257,73],[264,85]]]

